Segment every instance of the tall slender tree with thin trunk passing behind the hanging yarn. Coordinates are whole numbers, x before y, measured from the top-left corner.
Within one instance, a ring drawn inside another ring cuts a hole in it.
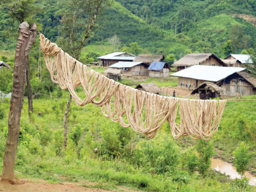
[[[68,0],[63,14],[58,44],[75,59],[79,59],[85,41],[96,29],[95,24],[102,15],[102,7],[108,6],[110,0]],[[67,143],[67,119],[72,96],[70,94],[63,118],[63,150]]]

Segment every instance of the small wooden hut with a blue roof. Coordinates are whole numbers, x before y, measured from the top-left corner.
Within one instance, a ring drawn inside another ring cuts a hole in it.
[[[165,62],[152,62],[148,68],[149,77],[169,77],[169,65]]]

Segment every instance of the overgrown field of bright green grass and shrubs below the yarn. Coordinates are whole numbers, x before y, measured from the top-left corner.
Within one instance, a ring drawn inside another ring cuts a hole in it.
[[[77,92],[78,95],[83,95],[80,88]],[[55,89],[52,95],[57,97],[58,90]],[[96,182],[94,187],[116,188],[118,184],[145,191],[188,191],[189,188],[194,191],[241,191],[239,180],[231,181],[225,175],[207,169],[212,154],[209,142],[199,140],[196,148],[188,147],[197,142],[190,137],[174,140],[167,122],[154,139],[148,140],[144,135],[132,133],[130,128],[123,128],[119,123],[103,117],[101,109],[91,104],[79,107],[71,103],[68,146],[63,152],[62,115],[67,98],[68,94],[63,94],[61,99],[34,99],[31,122],[28,122],[27,100],[24,100],[15,166],[15,174],[19,177],[29,177],[31,180],[42,178],[49,183],[82,180]],[[248,110],[241,110],[245,125],[251,121],[254,107],[255,105],[251,105]],[[239,133],[238,127],[233,127],[231,132],[231,127],[224,129],[226,123],[233,119],[230,111],[235,111],[236,108],[232,102],[227,103],[220,130],[211,139],[213,143],[222,146],[223,151],[228,152],[230,145],[238,146],[239,140],[244,140],[243,135],[237,134],[235,139],[226,143],[226,139],[221,136],[224,134],[225,138],[229,138],[232,134]],[[0,121],[1,158],[7,138],[8,109],[9,99],[2,100],[0,110],[4,113]],[[42,116],[38,116],[38,112]],[[255,121],[252,118],[253,120]],[[246,141],[250,146],[249,151],[254,151],[254,141],[250,137]],[[97,152],[93,151],[95,148],[98,148]],[[222,157],[232,160],[232,155],[227,153]],[[255,165],[254,162],[255,156],[249,167]],[[204,168],[200,168],[202,166]],[[205,178],[194,173],[195,170],[201,172],[202,169],[202,173],[207,175]],[[243,187],[244,191],[255,190],[252,186]]]

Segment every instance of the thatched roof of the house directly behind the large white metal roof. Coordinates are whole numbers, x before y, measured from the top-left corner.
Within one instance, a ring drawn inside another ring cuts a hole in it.
[[[215,58],[222,66],[226,66],[225,63],[222,62],[218,57],[213,55],[212,53],[189,53],[183,58],[174,62],[172,67],[180,67],[180,66],[192,66],[192,65],[200,65],[201,62],[206,59],[213,57]]]

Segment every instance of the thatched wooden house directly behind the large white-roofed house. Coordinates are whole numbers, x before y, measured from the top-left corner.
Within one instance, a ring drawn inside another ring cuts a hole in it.
[[[177,71],[180,71],[193,65],[226,66],[222,60],[212,53],[189,53],[171,66],[177,67]]]

